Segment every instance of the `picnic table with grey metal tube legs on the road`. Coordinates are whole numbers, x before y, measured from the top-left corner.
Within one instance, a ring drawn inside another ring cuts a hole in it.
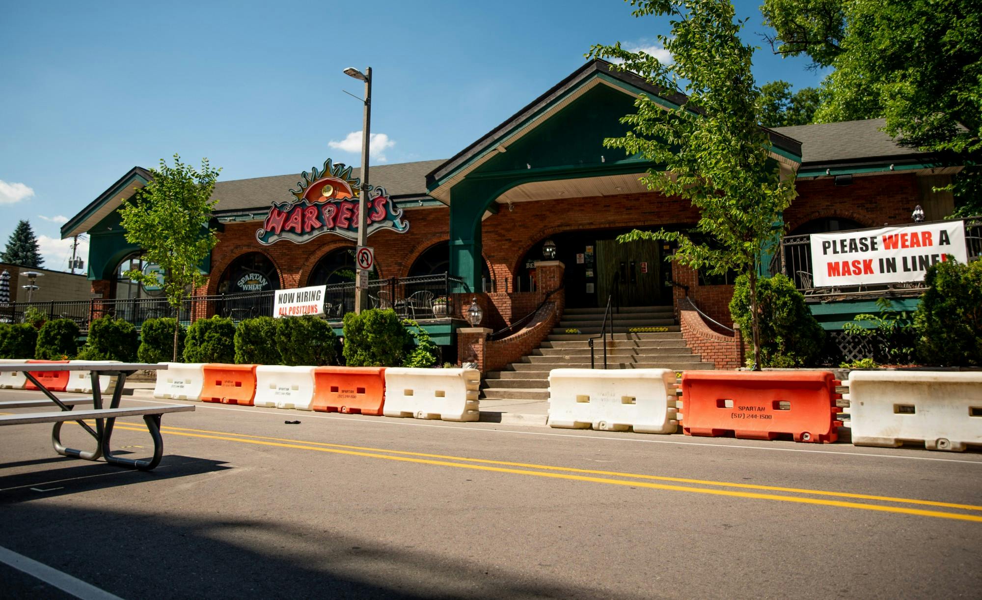
[[[162,369],[167,369],[167,365],[104,362],[0,364],[0,373],[24,373],[27,381],[47,396],[47,399],[0,401],[0,410],[5,408],[54,408],[56,406],[59,409],[46,412],[0,415],[0,426],[53,423],[54,428],[51,431],[51,443],[55,451],[59,454],[76,456],[85,460],[98,460],[101,457],[105,458],[106,462],[110,464],[149,471],[160,463],[160,458],[163,456],[164,441],[160,436],[161,416],[170,412],[191,411],[194,410],[194,407],[187,404],[158,404],[146,408],[120,408],[120,398],[123,395],[127,376],[133,375],[136,371],[159,371]],[[50,371],[88,371],[92,378],[92,397],[59,398],[32,375],[32,373]],[[100,375],[116,376],[116,385],[111,391],[112,395],[108,408],[103,407],[102,392],[99,386]],[[73,410],[77,405],[88,404],[89,402],[92,404],[92,409]],[[149,459],[114,456],[111,452],[110,443],[116,419],[118,417],[136,415],[143,417],[143,422],[146,423],[146,428],[150,432],[150,438],[153,439],[153,456]],[[95,419],[95,429],[92,429],[88,423],[85,423],[86,419]],[[61,428],[67,421],[79,423],[82,429],[92,436],[96,443],[95,450],[77,450],[67,448],[62,444]]]

